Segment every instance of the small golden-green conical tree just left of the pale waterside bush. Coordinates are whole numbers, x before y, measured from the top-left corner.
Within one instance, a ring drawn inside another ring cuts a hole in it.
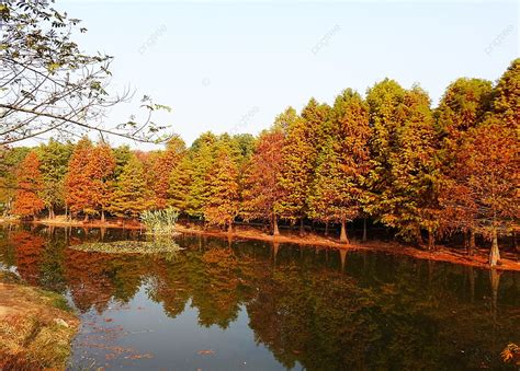
[[[137,218],[140,212],[152,207],[150,195],[145,167],[132,155],[113,186],[109,211],[120,217]]]

